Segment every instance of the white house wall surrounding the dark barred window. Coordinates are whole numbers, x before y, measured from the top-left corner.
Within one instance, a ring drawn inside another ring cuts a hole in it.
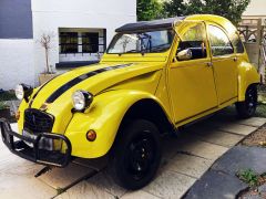
[[[35,84],[45,69],[44,52],[37,42],[42,33],[52,33],[50,64],[59,62],[59,28],[106,29],[108,44],[114,30],[136,21],[136,0],[32,0]]]

